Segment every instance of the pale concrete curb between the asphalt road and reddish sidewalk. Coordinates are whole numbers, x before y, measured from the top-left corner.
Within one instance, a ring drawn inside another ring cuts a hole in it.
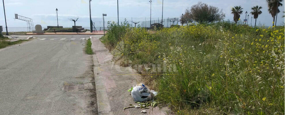
[[[104,85],[104,81],[102,78],[102,72],[99,66],[99,62],[97,60],[97,55],[95,53],[95,46],[92,41],[92,37],[90,37],[92,43],[93,54],[93,72],[95,77],[95,87],[96,87],[96,98],[97,98],[97,110],[98,115],[113,115],[111,112],[111,107],[109,103],[109,97],[107,95],[107,90]]]

